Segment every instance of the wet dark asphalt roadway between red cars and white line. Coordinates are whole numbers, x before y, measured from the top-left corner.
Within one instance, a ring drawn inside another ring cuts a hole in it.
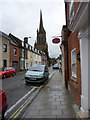
[[[52,74],[54,70],[49,68],[49,74]],[[25,84],[25,73],[19,73],[16,76],[8,77],[2,80],[2,88],[7,96],[8,109],[10,109],[17,101],[25,96],[34,87],[40,85]],[[7,109],[7,110],[8,110]]]

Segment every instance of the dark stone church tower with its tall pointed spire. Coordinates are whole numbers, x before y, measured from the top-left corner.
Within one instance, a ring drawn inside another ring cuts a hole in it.
[[[48,45],[46,43],[46,31],[43,27],[42,11],[40,10],[40,24],[39,30],[37,29],[37,42],[35,45],[37,49],[43,52],[48,52]]]

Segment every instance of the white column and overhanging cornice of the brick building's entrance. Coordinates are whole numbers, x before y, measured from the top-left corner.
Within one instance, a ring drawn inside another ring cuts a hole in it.
[[[71,1],[72,6],[76,5],[73,11],[73,19],[70,22],[69,29],[77,33],[80,44],[80,62],[81,62],[81,115],[90,118],[90,1],[75,3]]]

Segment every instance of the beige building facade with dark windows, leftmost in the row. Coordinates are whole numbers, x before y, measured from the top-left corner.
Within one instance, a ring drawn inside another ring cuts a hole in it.
[[[0,67],[10,66],[10,38],[0,31]]]

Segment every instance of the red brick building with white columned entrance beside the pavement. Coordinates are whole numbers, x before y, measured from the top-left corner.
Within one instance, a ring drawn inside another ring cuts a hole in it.
[[[65,86],[73,94],[83,117],[90,117],[90,2],[65,2],[62,28]],[[62,47],[61,47],[62,48]]]

